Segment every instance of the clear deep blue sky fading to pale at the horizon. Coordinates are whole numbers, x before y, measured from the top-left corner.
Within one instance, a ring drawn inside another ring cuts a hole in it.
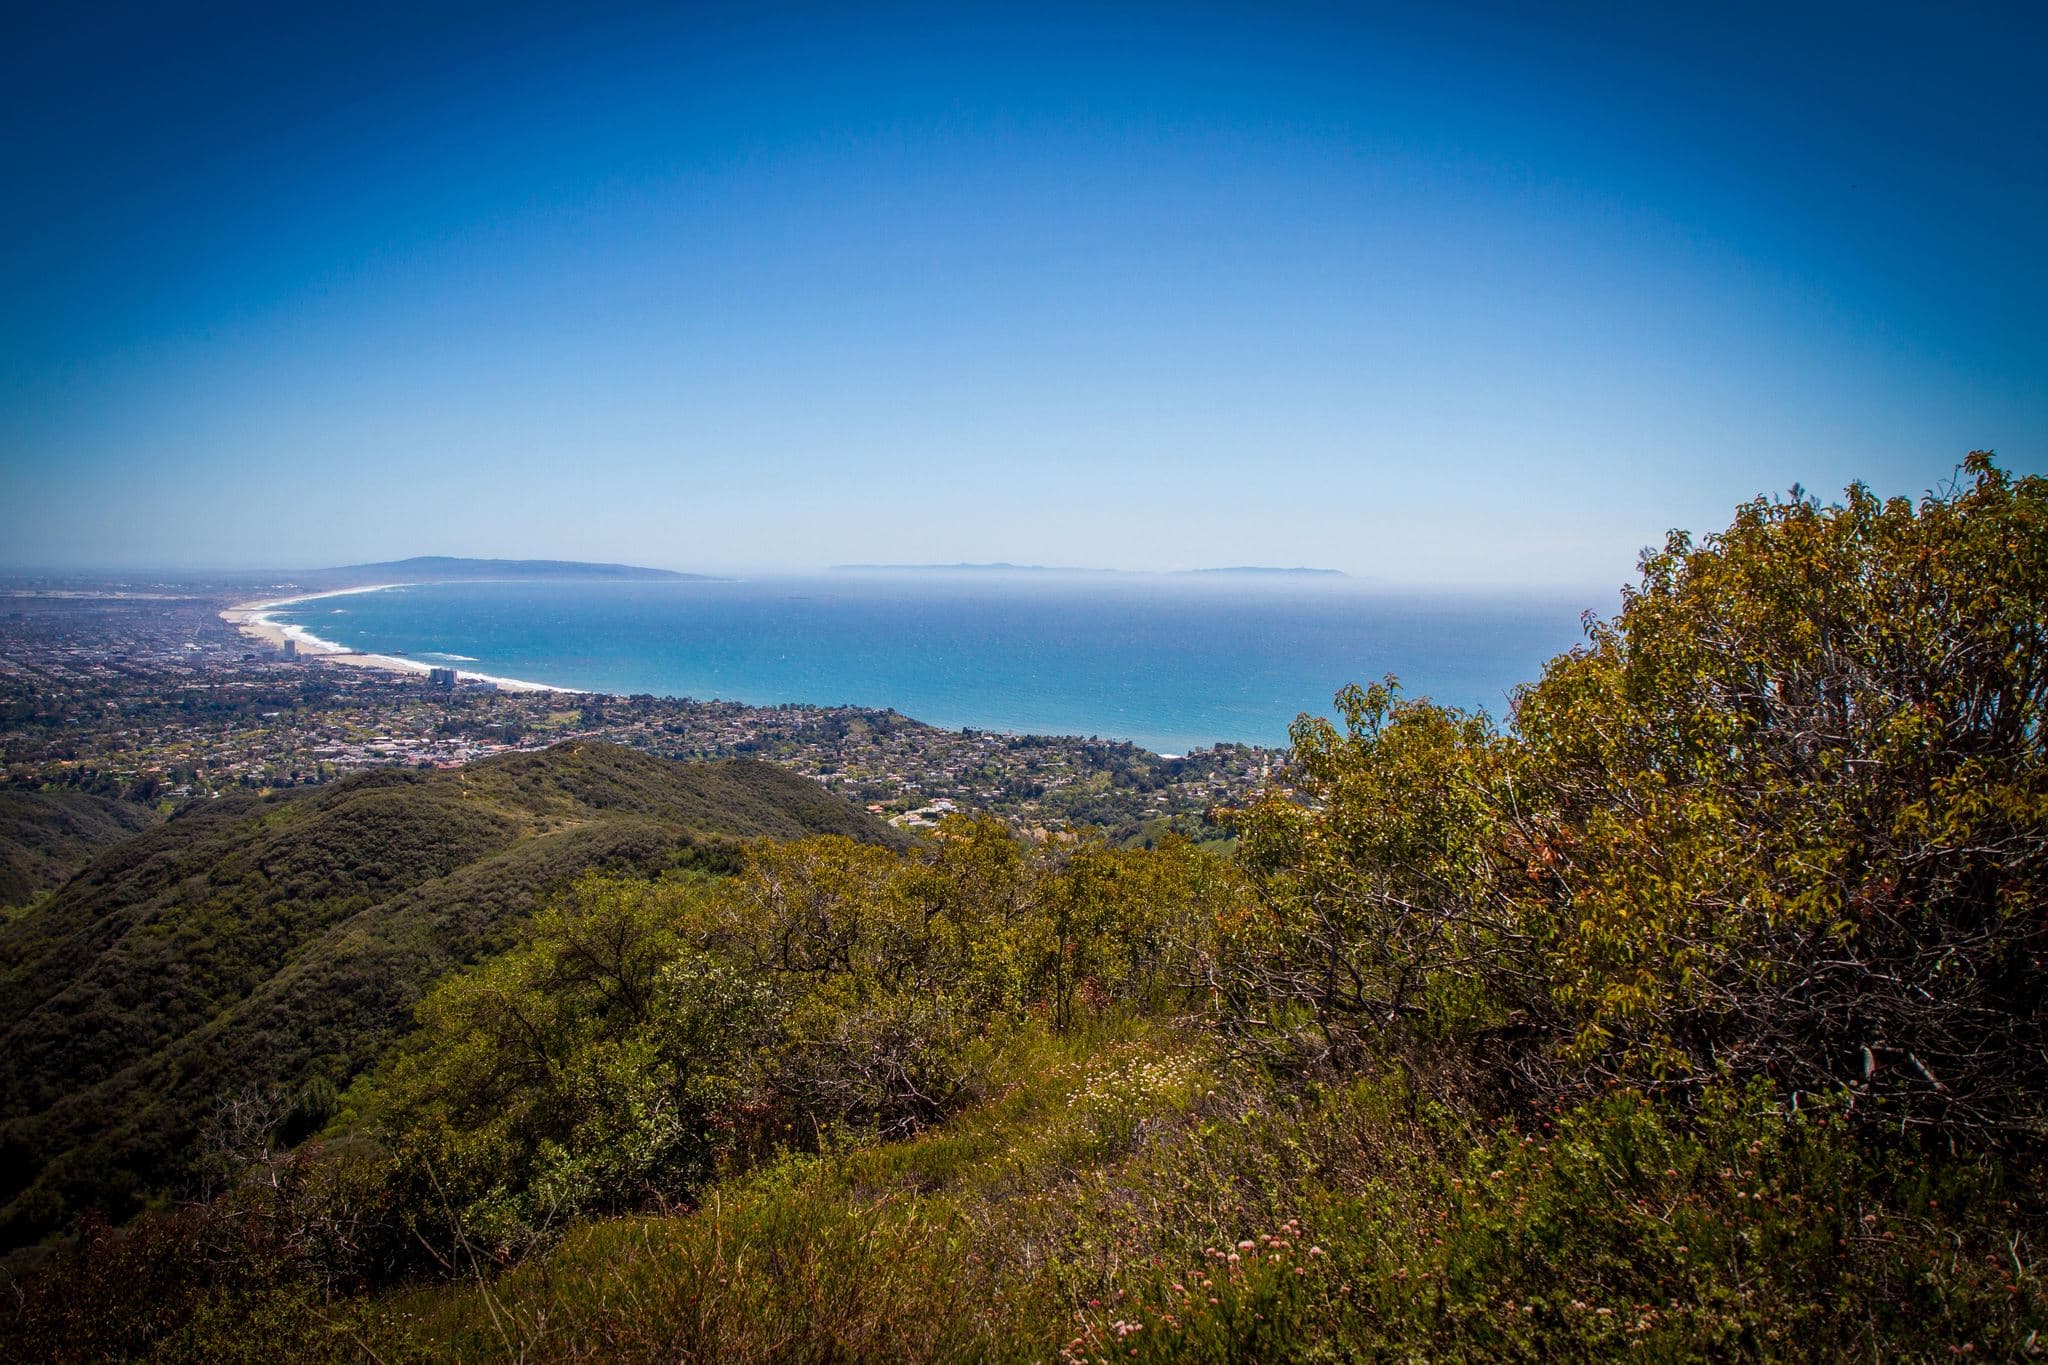
[[[567,8],[16,16],[0,561],[1593,585],[2048,467],[2038,6]]]

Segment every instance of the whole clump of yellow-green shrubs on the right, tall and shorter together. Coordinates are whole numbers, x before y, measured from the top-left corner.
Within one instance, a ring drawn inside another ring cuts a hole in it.
[[[1757,501],[1645,557],[1509,735],[1346,692],[1241,819],[1247,1038],[1491,1036],[1532,1095],[1769,1076],[2040,1136],[2048,481]]]

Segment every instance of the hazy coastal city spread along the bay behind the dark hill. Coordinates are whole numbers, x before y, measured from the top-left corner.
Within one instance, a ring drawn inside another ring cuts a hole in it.
[[[0,782],[160,806],[457,767],[569,739],[782,763],[905,829],[991,812],[1022,833],[1225,835],[1282,749],[1155,755],[1124,741],[946,731],[893,710],[500,690],[446,669],[346,667],[252,641],[219,591],[0,587]]]

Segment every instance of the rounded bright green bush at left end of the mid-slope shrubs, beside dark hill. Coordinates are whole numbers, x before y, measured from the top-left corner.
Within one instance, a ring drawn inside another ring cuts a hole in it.
[[[393,1140],[414,1234],[506,1254],[713,1164],[774,1001],[690,956],[696,882],[586,878],[526,941],[436,986],[344,1126]]]

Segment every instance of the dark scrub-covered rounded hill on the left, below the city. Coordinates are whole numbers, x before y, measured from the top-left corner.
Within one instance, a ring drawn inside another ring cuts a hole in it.
[[[346,1087],[569,878],[807,833],[901,841],[766,763],[584,743],[188,806],[0,931],[6,1240],[180,1183],[223,1093]]]

